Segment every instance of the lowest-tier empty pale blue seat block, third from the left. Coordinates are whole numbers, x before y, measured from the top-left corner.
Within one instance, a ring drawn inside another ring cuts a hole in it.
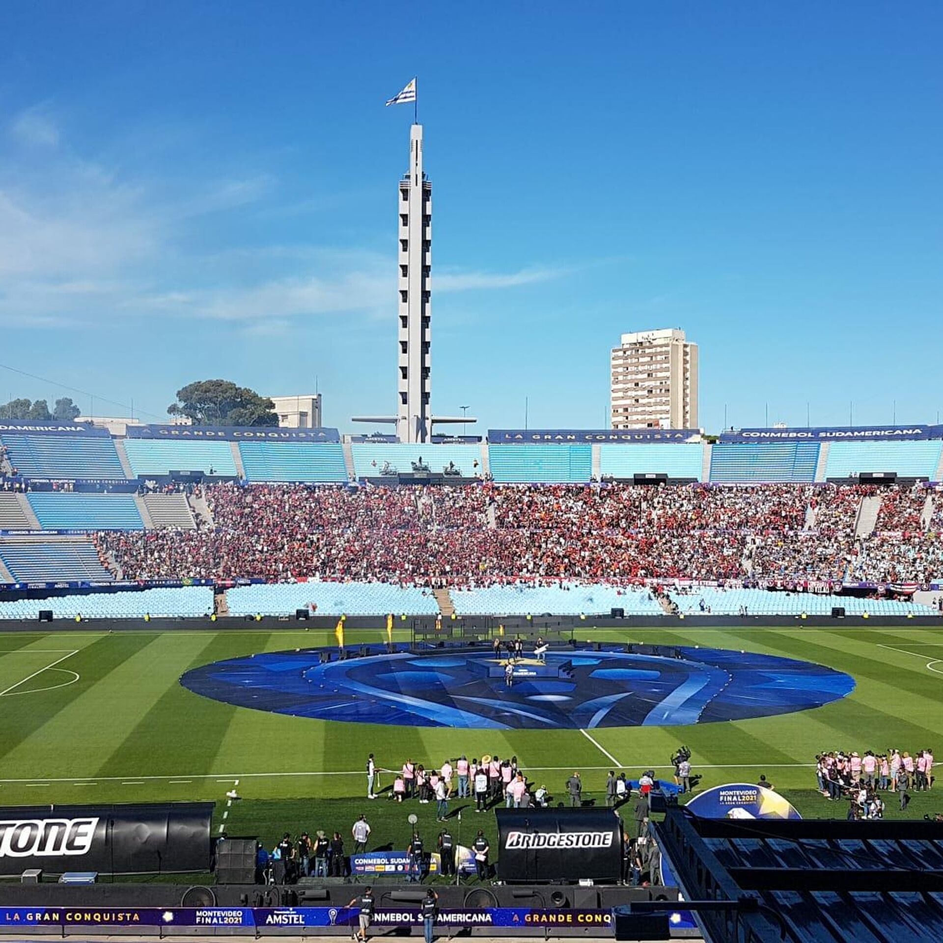
[[[622,609],[626,616],[662,616],[664,610],[648,589],[636,587],[561,586],[535,587],[520,584],[453,589],[450,593],[460,616],[554,616],[609,615]]]

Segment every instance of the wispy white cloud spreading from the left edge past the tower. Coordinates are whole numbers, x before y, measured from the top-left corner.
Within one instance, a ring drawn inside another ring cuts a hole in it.
[[[396,310],[392,246],[388,255],[284,240],[251,247],[194,240],[213,214],[265,215],[277,197],[273,174],[173,187],[130,178],[117,159],[108,166],[75,154],[45,106],[21,112],[8,131],[39,150],[27,159],[0,149],[0,324],[93,330],[159,313],[273,336],[295,319],[386,318]],[[255,236],[251,222],[235,231]],[[437,270],[433,292],[512,289],[568,271]]]

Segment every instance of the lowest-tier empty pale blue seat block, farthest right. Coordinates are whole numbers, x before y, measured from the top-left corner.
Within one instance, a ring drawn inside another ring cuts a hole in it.
[[[830,616],[833,607],[842,607],[849,616],[907,616],[926,613],[926,606],[888,599],[859,599],[829,593],[775,592],[769,589],[719,589],[697,587],[689,593],[668,590],[671,601],[688,616],[736,616],[746,609],[748,616]],[[453,593],[453,598],[455,593]],[[703,603],[703,609],[702,609]]]

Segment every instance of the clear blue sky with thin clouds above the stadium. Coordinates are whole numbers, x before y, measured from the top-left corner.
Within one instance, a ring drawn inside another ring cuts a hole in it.
[[[391,411],[418,74],[436,412],[599,427],[680,326],[708,429],[934,421],[941,48],[938,2],[2,5],[0,363]]]

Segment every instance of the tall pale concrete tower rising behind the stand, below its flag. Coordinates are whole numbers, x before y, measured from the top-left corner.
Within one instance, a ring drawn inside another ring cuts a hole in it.
[[[409,171],[399,185],[399,401],[396,434],[424,442],[431,434],[430,292],[432,184],[422,173],[422,124],[409,129]]]

